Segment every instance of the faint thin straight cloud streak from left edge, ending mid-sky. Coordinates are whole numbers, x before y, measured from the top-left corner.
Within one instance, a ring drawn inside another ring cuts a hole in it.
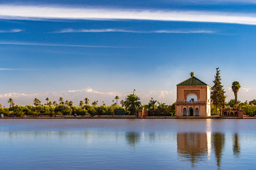
[[[47,44],[36,42],[9,42],[0,41],[0,45],[31,45],[31,46],[52,46],[52,47],[93,47],[93,48],[135,48],[135,47],[117,47],[117,46],[97,46],[97,45],[65,45],[65,44]]]

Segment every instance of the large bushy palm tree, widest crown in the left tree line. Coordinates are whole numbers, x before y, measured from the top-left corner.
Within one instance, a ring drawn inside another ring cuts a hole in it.
[[[129,94],[127,98],[125,98],[124,106],[132,113],[132,115],[135,115],[139,107],[142,106],[142,103],[139,100],[140,98],[135,94]]]

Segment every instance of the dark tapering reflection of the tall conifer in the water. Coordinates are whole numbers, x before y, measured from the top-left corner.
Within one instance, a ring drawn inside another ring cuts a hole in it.
[[[215,152],[215,157],[217,160],[217,166],[220,169],[220,161],[222,152],[224,149],[224,143],[225,143],[225,135],[220,132],[213,133],[213,148]]]

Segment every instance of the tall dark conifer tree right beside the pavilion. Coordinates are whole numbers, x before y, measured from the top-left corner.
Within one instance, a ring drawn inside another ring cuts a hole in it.
[[[213,83],[214,85],[211,87],[210,98],[213,101],[213,105],[215,106],[217,113],[217,108],[221,107],[225,103],[225,91],[223,89],[223,85],[221,85],[219,67],[216,68],[216,75]]]

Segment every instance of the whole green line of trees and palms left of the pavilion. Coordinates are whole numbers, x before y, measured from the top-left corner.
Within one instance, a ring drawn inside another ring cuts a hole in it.
[[[9,98],[9,108],[2,107],[0,104],[0,113],[5,116],[56,116],[56,115],[114,115],[114,110],[124,109],[126,115],[136,115],[139,109],[143,107],[146,111],[149,111],[149,115],[175,115],[175,104],[167,106],[165,103],[159,103],[153,98],[148,104],[142,105],[139,96],[135,94],[129,94],[125,100],[120,101],[120,105],[117,105],[119,96],[114,98],[116,103],[113,102],[111,106],[106,106],[104,101],[101,106],[98,105],[98,101],[93,101],[90,105],[89,98],[85,98],[80,101],[79,106],[73,106],[73,101],[64,101],[63,97],[60,97],[57,101],[50,101],[46,98],[46,103],[41,104],[38,98],[33,99],[33,105],[20,106],[15,105],[14,99]]]

